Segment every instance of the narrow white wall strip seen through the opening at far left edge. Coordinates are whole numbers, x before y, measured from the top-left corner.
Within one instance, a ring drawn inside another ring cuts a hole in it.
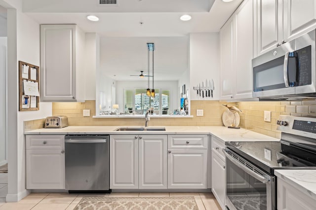
[[[5,25],[6,26],[6,25]],[[0,166],[7,162],[6,155],[6,50],[7,38],[0,37]]]

